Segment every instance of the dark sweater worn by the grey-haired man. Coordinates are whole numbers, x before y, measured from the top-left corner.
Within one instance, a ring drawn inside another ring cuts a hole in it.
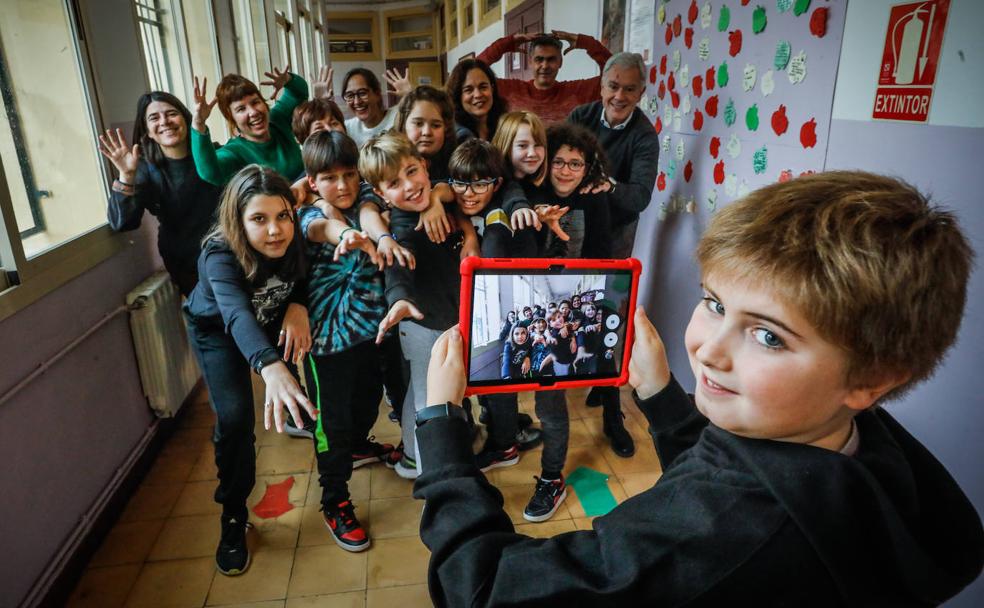
[[[609,173],[617,182],[611,193],[612,228],[639,219],[653,197],[659,161],[659,136],[645,113],[636,108],[624,129],[601,124],[604,106],[595,101],[574,108],[568,122],[581,125],[598,136],[608,157]]]

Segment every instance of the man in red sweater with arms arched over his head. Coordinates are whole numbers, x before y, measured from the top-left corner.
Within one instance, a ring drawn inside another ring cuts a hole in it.
[[[566,51],[561,41],[569,44]],[[513,34],[493,42],[478,59],[492,65],[506,53],[521,52],[526,43],[529,43],[533,80],[498,79],[499,94],[509,102],[510,110],[533,112],[545,123],[552,123],[564,120],[578,105],[598,99],[601,76],[557,80],[557,72],[564,65],[564,55],[574,49],[587,51],[599,68],[605,65],[612,54],[591,36],[557,30],[550,34]]]

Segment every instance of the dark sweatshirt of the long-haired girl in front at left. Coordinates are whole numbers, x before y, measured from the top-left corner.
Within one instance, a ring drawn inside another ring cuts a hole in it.
[[[306,305],[307,292],[306,281],[282,278],[277,274],[280,264],[257,257],[262,264],[257,275],[263,278],[254,284],[228,245],[208,241],[198,260],[198,285],[184,304],[200,329],[230,334],[253,369],[260,361],[276,359],[268,328],[283,319],[288,304]]]

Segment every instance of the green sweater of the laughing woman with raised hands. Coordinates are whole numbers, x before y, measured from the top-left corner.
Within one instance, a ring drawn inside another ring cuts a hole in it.
[[[199,133],[192,129],[191,154],[198,175],[211,184],[225,186],[240,169],[256,163],[273,169],[288,181],[295,180],[304,172],[304,162],[290,121],[294,108],[307,96],[307,83],[297,74],[291,74],[280,99],[270,108],[270,140],[264,143],[233,137],[216,150],[208,130]]]

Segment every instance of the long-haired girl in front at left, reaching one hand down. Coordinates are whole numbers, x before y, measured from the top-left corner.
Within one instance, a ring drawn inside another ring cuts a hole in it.
[[[263,378],[264,426],[283,432],[283,408],[317,412],[292,370],[311,349],[303,242],[294,197],[273,170],[248,165],[222,192],[205,237],[201,280],[185,302],[188,335],[215,411],[215,466],[222,533],[215,563],[227,576],[249,567],[246,499],[256,482],[253,385]]]

